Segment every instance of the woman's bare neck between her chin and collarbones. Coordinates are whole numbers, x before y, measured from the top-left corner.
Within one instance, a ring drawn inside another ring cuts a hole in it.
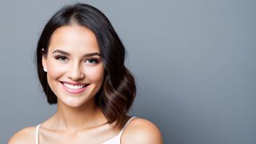
[[[58,108],[53,118],[57,130],[78,131],[97,127],[107,122],[101,109],[96,106],[94,99],[81,107],[68,107],[58,101]]]

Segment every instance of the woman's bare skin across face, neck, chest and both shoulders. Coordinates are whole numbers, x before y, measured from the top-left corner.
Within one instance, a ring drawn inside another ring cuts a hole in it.
[[[86,27],[76,24],[59,27],[51,36],[48,55],[42,63],[48,70],[48,84],[57,96],[58,108],[40,125],[39,143],[103,143],[120,132],[121,128],[114,129],[114,123],[106,123],[106,117],[95,104],[95,94],[103,84],[104,68],[100,55],[83,57],[88,53],[100,53],[100,48],[94,33]],[[89,85],[80,94],[70,94],[63,89],[63,81]],[[35,127],[25,127],[8,143],[35,143]],[[121,143],[163,142],[158,127],[135,118],[121,135]]]

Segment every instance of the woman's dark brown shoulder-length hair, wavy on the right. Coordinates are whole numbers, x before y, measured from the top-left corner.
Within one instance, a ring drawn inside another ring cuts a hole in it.
[[[125,115],[135,99],[135,79],[124,66],[125,48],[108,18],[93,6],[74,4],[64,6],[48,21],[38,40],[36,60],[38,78],[43,86],[49,104],[56,104],[57,98],[43,72],[42,56],[47,55],[53,32],[62,26],[79,24],[92,30],[100,47],[105,76],[103,86],[95,95],[96,104],[103,111],[108,122],[123,127]],[[43,48],[43,50],[42,50]]]

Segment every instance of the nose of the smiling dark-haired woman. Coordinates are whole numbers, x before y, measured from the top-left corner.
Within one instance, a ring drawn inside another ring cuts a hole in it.
[[[69,67],[68,76],[72,81],[79,81],[85,78],[85,73],[83,73],[80,64],[72,64],[72,66]]]

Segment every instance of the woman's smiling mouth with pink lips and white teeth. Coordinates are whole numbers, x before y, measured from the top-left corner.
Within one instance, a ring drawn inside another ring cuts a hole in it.
[[[80,94],[88,87],[90,84],[74,84],[74,83],[67,83],[67,82],[61,82],[63,88],[65,91],[71,93],[71,94]]]

